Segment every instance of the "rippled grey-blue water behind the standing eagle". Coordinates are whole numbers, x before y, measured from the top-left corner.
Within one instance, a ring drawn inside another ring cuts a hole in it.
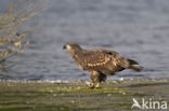
[[[72,42],[116,51],[145,68],[108,79],[169,78],[168,0],[51,0],[50,4],[55,5],[27,24],[37,27],[31,44],[12,58],[17,65],[1,72],[0,79],[89,80],[62,48]]]

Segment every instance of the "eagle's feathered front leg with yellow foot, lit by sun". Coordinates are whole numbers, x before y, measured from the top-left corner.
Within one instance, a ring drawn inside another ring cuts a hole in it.
[[[90,79],[92,81],[92,84],[90,85],[90,88],[100,88],[100,72],[98,71],[90,71]]]

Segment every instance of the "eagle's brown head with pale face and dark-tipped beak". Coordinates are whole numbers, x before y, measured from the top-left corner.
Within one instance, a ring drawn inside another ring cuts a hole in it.
[[[63,46],[64,50],[68,50],[68,51],[75,51],[75,50],[81,50],[80,45],[76,44],[76,43],[68,43],[65,44]]]

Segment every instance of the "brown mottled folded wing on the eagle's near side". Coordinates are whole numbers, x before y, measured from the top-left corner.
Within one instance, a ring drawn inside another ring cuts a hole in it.
[[[126,68],[126,59],[118,53],[108,50],[83,51],[78,64],[82,69],[120,71]]]

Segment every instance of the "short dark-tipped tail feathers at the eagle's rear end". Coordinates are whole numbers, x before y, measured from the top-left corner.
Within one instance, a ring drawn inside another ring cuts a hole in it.
[[[143,67],[139,66],[139,64],[135,60],[132,59],[128,59],[129,64],[130,64],[130,69],[134,70],[134,71],[141,71],[143,70]]]

